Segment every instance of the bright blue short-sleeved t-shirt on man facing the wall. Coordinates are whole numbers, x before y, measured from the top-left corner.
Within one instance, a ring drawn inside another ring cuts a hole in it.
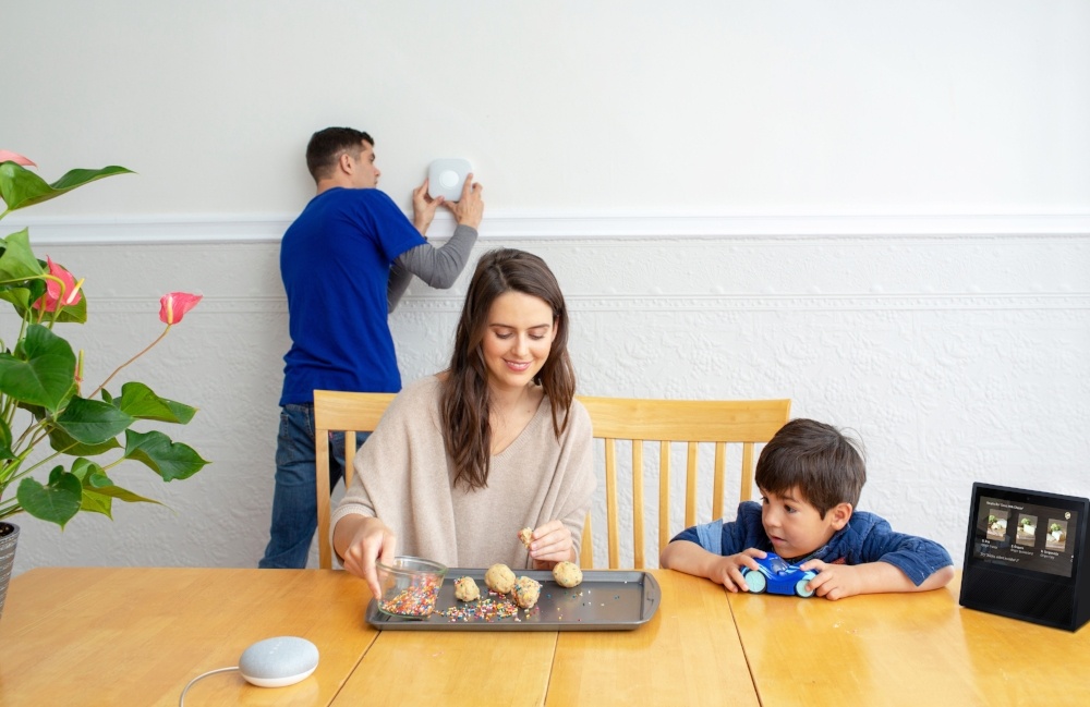
[[[280,242],[291,349],[280,404],[314,402],[314,390],[398,392],[387,320],[390,265],[426,243],[393,200],[375,188],[318,194]]]

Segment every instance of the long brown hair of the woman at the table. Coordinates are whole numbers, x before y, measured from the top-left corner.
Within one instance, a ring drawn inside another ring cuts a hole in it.
[[[453,484],[464,484],[469,489],[488,484],[492,427],[488,370],[481,342],[492,304],[506,292],[538,297],[553,309],[556,339],[534,382],[548,398],[557,439],[568,426],[568,411],[576,394],[576,370],[568,355],[568,307],[553,271],[544,260],[525,251],[500,248],[485,253],[465,294],[439,402],[444,444],[455,463]]]

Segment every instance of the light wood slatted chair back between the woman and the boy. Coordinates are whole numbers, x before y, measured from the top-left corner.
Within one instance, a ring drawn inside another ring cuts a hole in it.
[[[739,499],[750,500],[753,488],[754,444],[767,442],[790,415],[790,400],[646,400],[632,398],[590,398],[579,400],[591,414],[595,439],[605,446],[606,539],[609,569],[620,566],[620,527],[618,516],[617,450],[618,440],[630,442],[632,450],[632,548],[635,569],[646,566],[643,524],[643,442],[658,442],[658,550],[677,532],[669,527],[670,443],[685,442],[687,449],[685,527],[697,524],[698,444],[713,442],[715,448],[712,482],[712,517],[723,517],[727,444],[741,446]],[[593,509],[592,509],[593,510]],[[706,522],[706,521],[705,521]],[[657,554],[655,556],[657,559]],[[586,515],[580,549],[580,564],[594,566],[591,514]]]

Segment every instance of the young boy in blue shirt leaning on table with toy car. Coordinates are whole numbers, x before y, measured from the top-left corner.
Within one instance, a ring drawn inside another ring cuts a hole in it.
[[[946,586],[954,568],[942,546],[855,511],[865,480],[862,458],[835,427],[794,419],[756,463],[761,503],[742,502],[732,523],[679,533],[659,564],[748,592],[741,569],[756,570],[753,558],[775,552],[816,572],[809,588],[826,599]]]

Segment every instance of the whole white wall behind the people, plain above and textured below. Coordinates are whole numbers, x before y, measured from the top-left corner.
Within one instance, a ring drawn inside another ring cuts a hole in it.
[[[4,4],[0,148],[138,175],[0,234],[29,223],[86,277],[68,336],[94,382],[158,334],[160,294],[205,294],[131,375],[201,406],[174,437],[214,462],[117,474],[173,511],[20,516],[16,571],[256,562],[277,240],[328,124],[375,136],[405,207],[432,158],[474,163],[477,253],[549,261],[583,393],[790,397],[863,438],[864,510],[957,561],[972,480],[1090,491],[1085,2]],[[407,379],[444,364],[464,284],[395,313]]]

